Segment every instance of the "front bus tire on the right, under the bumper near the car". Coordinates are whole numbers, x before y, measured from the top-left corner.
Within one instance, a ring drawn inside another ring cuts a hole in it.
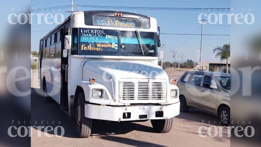
[[[167,133],[171,130],[174,118],[169,118],[165,120],[150,120],[152,127],[158,133]]]

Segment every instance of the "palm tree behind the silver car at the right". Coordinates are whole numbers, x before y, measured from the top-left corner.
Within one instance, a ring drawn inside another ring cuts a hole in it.
[[[224,44],[223,47],[215,47],[213,53],[216,53],[216,58],[219,57],[220,60],[227,60],[227,73],[228,73],[228,59],[230,58],[230,43]]]

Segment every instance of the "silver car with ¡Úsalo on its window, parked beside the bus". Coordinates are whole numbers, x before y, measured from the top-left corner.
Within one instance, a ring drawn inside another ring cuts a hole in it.
[[[187,71],[177,86],[181,112],[198,109],[218,116],[222,125],[230,125],[230,74]]]

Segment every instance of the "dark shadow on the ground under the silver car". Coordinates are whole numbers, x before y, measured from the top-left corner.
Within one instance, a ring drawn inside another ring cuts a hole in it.
[[[176,118],[214,126],[222,126],[217,116],[196,109],[189,109],[186,113],[180,112],[180,115],[176,116]]]

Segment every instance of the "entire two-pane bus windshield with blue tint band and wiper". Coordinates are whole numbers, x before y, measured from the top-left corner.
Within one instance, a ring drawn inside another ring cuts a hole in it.
[[[157,56],[155,32],[79,29],[79,55]]]

